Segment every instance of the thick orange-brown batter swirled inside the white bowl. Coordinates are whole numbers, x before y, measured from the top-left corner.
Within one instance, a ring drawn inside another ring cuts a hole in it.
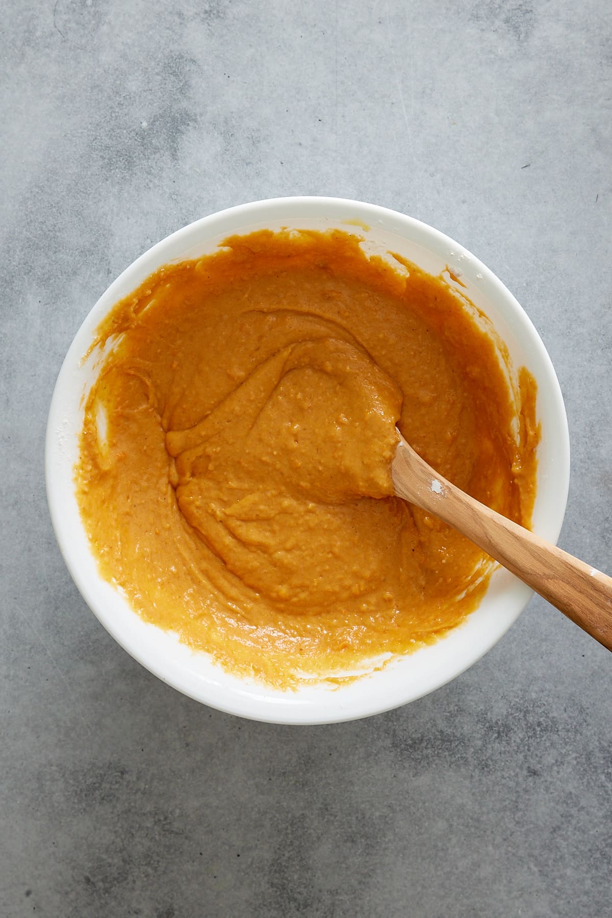
[[[447,280],[359,243],[233,237],[152,274],[95,341],[76,480],[103,576],[280,687],[430,643],[484,593],[491,560],[392,496],[395,423],[511,519],[535,494],[533,379],[512,391]]]

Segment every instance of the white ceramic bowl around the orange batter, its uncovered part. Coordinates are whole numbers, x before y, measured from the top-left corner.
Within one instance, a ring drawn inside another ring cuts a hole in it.
[[[267,689],[226,673],[171,633],[142,621],[96,569],[74,493],[73,466],[83,423],[83,393],[95,379],[93,361],[82,364],[96,326],[114,306],[163,263],[212,252],[232,233],[254,229],[338,227],[347,221],[366,241],[399,252],[430,274],[449,265],[461,274],[468,297],[492,320],[513,364],[525,365],[538,383],[541,442],[533,529],[551,542],[561,531],[569,482],[569,438],[561,389],[538,332],[517,300],[484,264],[437,229],[384,207],[331,197],[285,197],[230,207],[197,220],[158,242],[111,284],[77,332],[55,386],[47,429],[45,471],[51,520],[61,553],[83,599],[122,647],[152,673],[192,698],[242,717],[278,723],[348,721],[388,711],[439,688],[462,673],[502,637],[526,606],[531,591],[497,570],[480,607],[438,644],[395,659],[351,685]]]

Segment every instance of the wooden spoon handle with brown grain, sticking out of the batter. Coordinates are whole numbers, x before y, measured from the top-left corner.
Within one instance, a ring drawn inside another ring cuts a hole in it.
[[[612,577],[451,485],[397,432],[400,440],[391,465],[397,497],[462,532],[595,641],[612,650]]]

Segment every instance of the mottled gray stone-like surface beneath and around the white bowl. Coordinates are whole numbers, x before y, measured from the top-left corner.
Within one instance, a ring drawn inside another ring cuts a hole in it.
[[[2,94],[0,915],[612,914],[612,658],[534,599],[478,665],[290,728],[162,685],[51,532],[50,394],[150,243],[220,207],[405,211],[516,294],[557,369],[562,546],[612,568],[606,0],[9,0]]]

